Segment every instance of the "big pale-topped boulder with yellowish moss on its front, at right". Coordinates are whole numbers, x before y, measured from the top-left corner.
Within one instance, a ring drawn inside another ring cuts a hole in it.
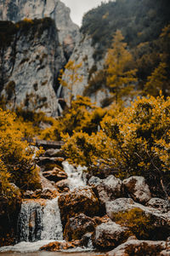
[[[132,212],[132,209],[136,209],[136,212]],[[108,201],[106,203],[106,212],[113,221],[117,222],[122,221],[123,212],[129,212],[127,217],[131,222],[133,219],[131,214],[134,214],[134,218],[136,219],[134,219],[133,224],[134,222],[136,223],[135,230],[137,232],[134,235],[142,236],[144,239],[147,236],[147,238],[149,237],[151,240],[164,240],[167,239],[167,236],[170,234],[169,218],[167,214],[162,214],[158,210],[151,207],[144,207],[143,205],[134,202],[133,199],[119,198],[115,201]],[[141,219],[139,216],[144,219],[146,226],[141,224]],[[140,224],[142,226],[141,228],[144,230],[143,235],[140,235],[142,232],[139,233],[138,229],[136,229],[138,224]],[[132,227],[132,224],[130,224],[130,226]]]

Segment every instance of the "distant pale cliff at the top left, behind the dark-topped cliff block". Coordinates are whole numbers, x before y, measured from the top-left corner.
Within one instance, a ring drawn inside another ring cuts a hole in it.
[[[25,18],[50,17],[59,30],[59,43],[68,58],[76,44],[79,29],[70,18],[71,10],[59,0],[0,0],[0,20],[17,22]]]

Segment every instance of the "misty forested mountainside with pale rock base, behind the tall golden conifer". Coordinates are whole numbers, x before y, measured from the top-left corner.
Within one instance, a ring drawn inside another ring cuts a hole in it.
[[[82,83],[75,84],[74,94],[85,93],[100,104],[108,97],[103,63],[117,29],[122,31],[128,49],[133,53],[135,67],[139,70],[138,79],[143,86],[160,61],[155,42],[161,29],[169,23],[168,0],[117,0],[101,3],[98,8],[90,10],[83,17],[81,40],[71,55],[71,60],[82,62],[79,73],[83,79]],[[67,74],[65,71],[65,80]]]

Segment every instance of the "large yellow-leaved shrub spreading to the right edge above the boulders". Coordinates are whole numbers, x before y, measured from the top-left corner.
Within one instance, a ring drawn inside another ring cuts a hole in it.
[[[91,136],[75,132],[65,137],[65,153],[77,164],[112,166],[118,177],[169,173],[170,97],[143,97],[102,119]]]

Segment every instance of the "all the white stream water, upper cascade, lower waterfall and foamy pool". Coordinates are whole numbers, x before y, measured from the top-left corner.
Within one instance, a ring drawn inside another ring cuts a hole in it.
[[[82,168],[74,168],[68,162],[63,167],[70,180],[70,189],[86,185]],[[0,256],[93,256],[101,253],[91,253],[92,243],[87,248],[77,248],[76,251],[62,253],[38,252],[39,248],[50,241],[63,241],[63,230],[58,206],[58,197],[47,200],[45,204],[39,201],[23,201],[18,218],[18,243],[14,246],[0,247]],[[69,253],[69,254],[68,254]]]

